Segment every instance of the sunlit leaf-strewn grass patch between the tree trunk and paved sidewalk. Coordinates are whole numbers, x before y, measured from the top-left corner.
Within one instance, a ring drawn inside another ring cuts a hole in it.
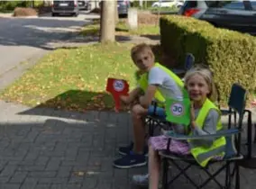
[[[136,67],[130,58],[133,44],[96,44],[57,49],[5,89],[1,99],[30,106],[65,110],[109,110],[112,96],[105,93],[109,76],[135,85]]]

